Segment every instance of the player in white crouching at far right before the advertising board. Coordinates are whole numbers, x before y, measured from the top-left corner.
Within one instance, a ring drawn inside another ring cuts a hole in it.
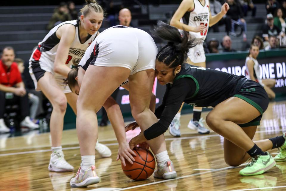
[[[255,44],[251,44],[249,48],[248,56],[245,59],[245,76],[247,79],[258,82],[262,85],[270,99],[275,98],[275,93],[271,90],[271,87],[274,87],[276,84],[275,79],[261,79],[260,77],[260,68],[257,61],[257,56],[259,54],[259,47]]]

